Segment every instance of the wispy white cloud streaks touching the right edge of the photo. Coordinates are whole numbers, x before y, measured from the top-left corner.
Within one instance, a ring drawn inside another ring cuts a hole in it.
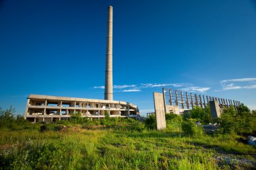
[[[223,90],[256,89],[256,78],[228,79],[220,81]]]

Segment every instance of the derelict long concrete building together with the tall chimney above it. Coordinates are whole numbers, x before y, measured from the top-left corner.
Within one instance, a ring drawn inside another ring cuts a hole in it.
[[[110,117],[137,118],[137,105],[113,100],[113,7],[108,7],[105,92],[103,99],[84,99],[50,95],[29,95],[25,118],[30,122],[51,122],[70,118],[79,113],[82,118]]]

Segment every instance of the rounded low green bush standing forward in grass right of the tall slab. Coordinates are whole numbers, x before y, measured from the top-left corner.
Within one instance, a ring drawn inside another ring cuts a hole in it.
[[[183,132],[189,136],[201,136],[203,134],[203,128],[195,124],[195,119],[187,119],[182,122],[181,128]]]

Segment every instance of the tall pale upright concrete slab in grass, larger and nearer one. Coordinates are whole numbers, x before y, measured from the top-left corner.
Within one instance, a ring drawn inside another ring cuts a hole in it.
[[[165,110],[164,110],[164,95],[162,93],[153,93],[154,106],[156,113],[156,129],[162,130],[166,128]]]

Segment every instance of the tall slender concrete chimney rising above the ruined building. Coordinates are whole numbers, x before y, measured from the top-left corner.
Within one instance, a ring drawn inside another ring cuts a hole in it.
[[[113,100],[113,7],[108,7],[108,28],[106,35],[106,70],[105,70],[105,97]]]

